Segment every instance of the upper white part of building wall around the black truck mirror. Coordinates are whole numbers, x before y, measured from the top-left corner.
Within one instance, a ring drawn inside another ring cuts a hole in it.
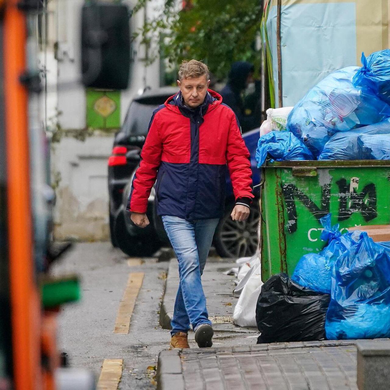
[[[135,1],[125,1],[130,8]],[[86,126],[85,88],[80,80],[80,14],[84,0],[58,0],[58,117],[63,129],[82,129]],[[155,0],[147,5],[147,17],[156,14],[155,6],[163,0]],[[130,27],[135,32],[142,27],[144,11],[140,10],[130,19]],[[142,93],[147,86],[158,86],[160,82],[159,62],[145,66],[145,48],[140,38],[133,44],[133,61],[129,88],[121,92],[121,120],[133,96]]]

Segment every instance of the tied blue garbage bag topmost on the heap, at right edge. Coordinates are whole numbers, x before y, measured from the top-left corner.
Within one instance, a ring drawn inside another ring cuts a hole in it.
[[[362,53],[362,67],[353,77],[353,85],[372,89],[390,104],[390,50],[380,50],[367,58]]]

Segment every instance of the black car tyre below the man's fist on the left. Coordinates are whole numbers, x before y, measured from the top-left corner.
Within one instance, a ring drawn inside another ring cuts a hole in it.
[[[160,248],[160,241],[155,237],[131,236],[126,229],[123,213],[117,216],[114,233],[118,248],[128,256],[150,257]]]

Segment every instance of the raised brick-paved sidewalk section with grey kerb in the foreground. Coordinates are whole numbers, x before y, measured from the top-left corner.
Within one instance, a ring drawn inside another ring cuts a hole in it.
[[[355,340],[174,349],[158,390],[357,390]]]

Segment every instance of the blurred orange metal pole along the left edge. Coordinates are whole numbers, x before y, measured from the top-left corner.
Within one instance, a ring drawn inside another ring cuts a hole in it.
[[[5,133],[14,389],[41,390],[39,294],[34,280],[28,155],[26,18],[17,0],[4,15]]]

